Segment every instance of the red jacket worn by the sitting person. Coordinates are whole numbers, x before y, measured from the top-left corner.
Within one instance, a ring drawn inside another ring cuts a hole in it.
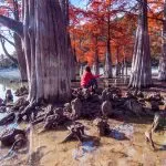
[[[93,75],[91,72],[84,72],[81,77],[81,86],[85,86],[92,79],[100,77],[101,75]]]

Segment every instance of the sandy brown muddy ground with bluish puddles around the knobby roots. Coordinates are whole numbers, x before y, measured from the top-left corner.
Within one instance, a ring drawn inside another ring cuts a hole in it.
[[[125,91],[126,86],[123,89]],[[157,82],[148,91],[160,91],[166,95],[165,84],[158,85]],[[126,135],[123,141],[118,139],[118,135],[100,137],[92,121],[80,122],[85,125],[86,134],[94,136],[94,146],[91,143],[81,146],[77,142],[62,144],[68,135],[65,127],[40,133],[43,124],[39,124],[30,133],[28,148],[1,159],[0,166],[166,166],[166,132],[154,134],[155,152],[144,138],[144,132],[152,124],[153,117],[110,118],[111,128]],[[0,156],[8,151],[2,148]]]

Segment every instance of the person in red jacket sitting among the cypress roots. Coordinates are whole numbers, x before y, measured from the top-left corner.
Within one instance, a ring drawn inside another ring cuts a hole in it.
[[[97,81],[96,79],[102,75],[93,75],[91,72],[91,68],[86,66],[85,71],[81,77],[81,86],[83,89],[92,87],[92,90],[97,89]]]

